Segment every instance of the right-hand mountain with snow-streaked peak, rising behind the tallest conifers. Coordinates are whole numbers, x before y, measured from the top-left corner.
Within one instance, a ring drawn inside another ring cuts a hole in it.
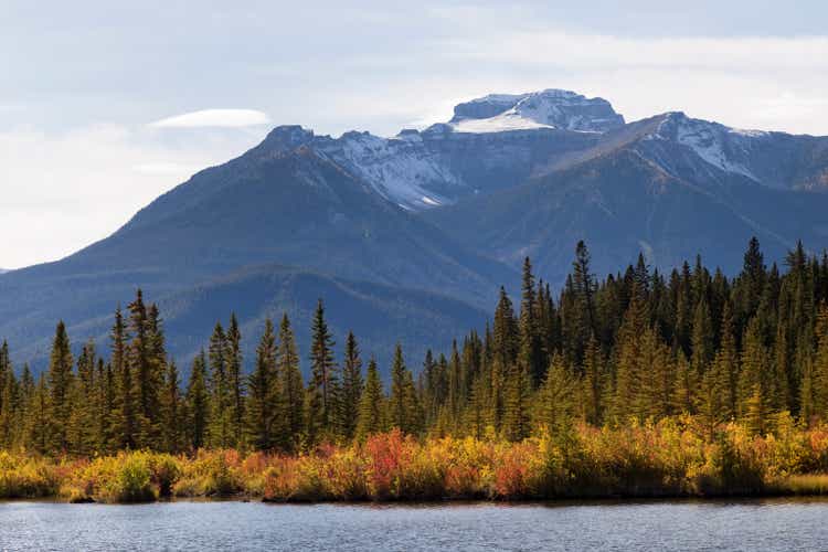
[[[661,269],[702,254],[729,273],[756,235],[771,259],[824,247],[828,139],[739,130],[669,113],[604,132],[522,184],[426,213],[505,263],[560,282],[586,240],[598,273],[638,252]]]

